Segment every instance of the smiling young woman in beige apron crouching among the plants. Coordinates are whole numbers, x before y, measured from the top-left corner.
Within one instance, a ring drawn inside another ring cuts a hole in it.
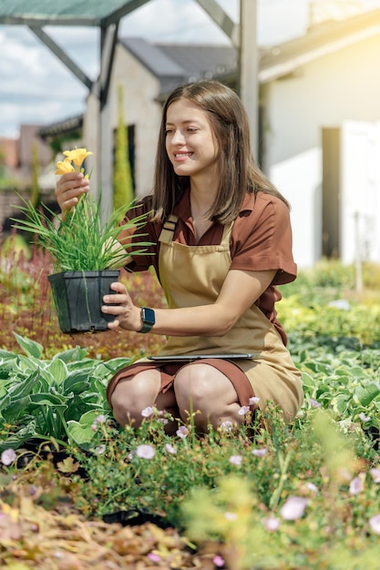
[[[88,189],[81,175],[64,175],[56,187],[60,208],[74,207]],[[303,402],[302,381],[274,309],[276,285],[296,276],[289,206],[255,166],[248,118],[229,87],[200,81],[169,95],[153,193],[126,219],[143,212],[149,221],[139,231],[154,245],[135,258],[132,249],[126,267],[153,265],[168,309],[134,305],[118,282],[102,310],[115,316],[110,329],[166,335],[160,354],[167,360],[135,362],[111,380],[117,421],[138,426],[141,411],[155,406],[183,421],[193,413],[204,430],[240,424],[241,406],[254,412],[267,401],[290,421]],[[230,356],[238,353],[252,356]],[[170,361],[180,354],[189,361]],[[192,361],[195,354],[208,357]]]

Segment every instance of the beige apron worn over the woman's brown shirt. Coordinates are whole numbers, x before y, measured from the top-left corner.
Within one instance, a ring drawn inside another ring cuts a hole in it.
[[[224,227],[220,245],[186,246],[174,242],[177,217],[165,222],[159,236],[159,276],[170,309],[214,303],[231,267],[233,223]],[[169,337],[159,354],[218,354],[249,352],[254,358],[235,359],[262,405],[270,400],[289,418],[303,402],[301,373],[295,368],[278,331],[255,304],[222,337]]]

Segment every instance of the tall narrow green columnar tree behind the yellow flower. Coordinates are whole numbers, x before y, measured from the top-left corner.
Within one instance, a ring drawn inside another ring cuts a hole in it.
[[[114,168],[114,209],[120,210],[133,200],[132,175],[128,153],[128,127],[123,113],[123,87],[118,85],[118,128],[116,130]],[[120,214],[122,217],[122,212]]]

